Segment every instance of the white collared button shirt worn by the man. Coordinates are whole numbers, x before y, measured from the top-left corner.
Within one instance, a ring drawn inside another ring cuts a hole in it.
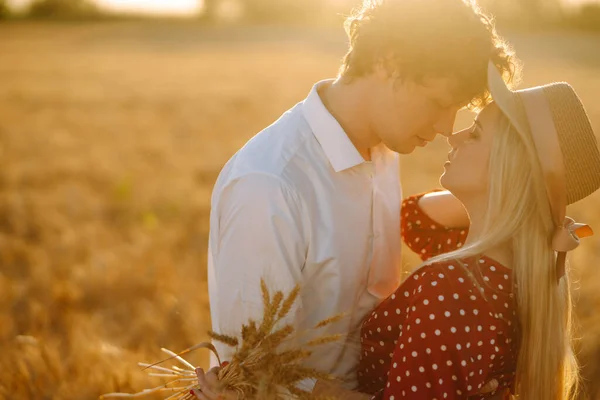
[[[261,320],[260,279],[272,291],[301,285],[285,322],[305,331],[345,313],[309,366],[356,383],[362,319],[400,284],[398,155],[383,145],[366,162],[327,111],[308,97],[225,165],[211,201],[208,284],[213,330],[237,335]],[[215,343],[222,360],[231,350]],[[214,358],[213,358],[214,363]]]

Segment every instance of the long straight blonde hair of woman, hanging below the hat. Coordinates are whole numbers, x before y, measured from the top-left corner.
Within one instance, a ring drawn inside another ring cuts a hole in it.
[[[515,394],[525,400],[574,399],[578,367],[571,346],[571,294],[568,276],[558,282],[551,248],[554,224],[541,166],[532,138],[519,135],[504,116],[498,126],[481,236],[427,264],[479,257],[510,244],[520,323]]]

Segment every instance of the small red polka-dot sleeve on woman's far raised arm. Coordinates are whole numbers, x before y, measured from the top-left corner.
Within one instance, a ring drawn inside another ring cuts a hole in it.
[[[419,199],[427,193],[404,199],[401,218],[402,240],[423,261],[459,249],[469,232],[468,227],[447,228],[429,218],[419,207]]]

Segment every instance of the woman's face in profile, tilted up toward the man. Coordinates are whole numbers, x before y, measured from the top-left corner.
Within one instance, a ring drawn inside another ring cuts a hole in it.
[[[487,194],[490,151],[501,116],[492,103],[477,115],[473,125],[448,138],[452,150],[440,183],[458,198]]]

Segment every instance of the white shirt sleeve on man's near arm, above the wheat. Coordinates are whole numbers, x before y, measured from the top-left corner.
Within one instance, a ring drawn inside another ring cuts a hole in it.
[[[213,330],[240,336],[243,324],[262,320],[261,278],[273,294],[302,285],[307,251],[302,205],[278,177],[252,174],[213,198],[209,294]],[[282,323],[300,326],[301,297]],[[300,327],[301,328],[301,327]],[[215,343],[221,360],[232,349]]]

